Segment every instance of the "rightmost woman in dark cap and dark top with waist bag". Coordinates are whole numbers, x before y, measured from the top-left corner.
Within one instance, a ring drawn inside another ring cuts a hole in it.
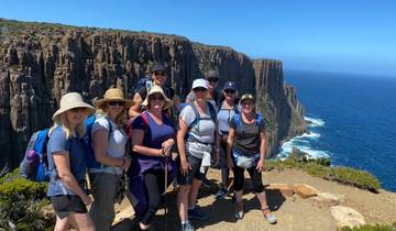
[[[241,97],[241,105],[242,112],[231,119],[227,140],[228,166],[234,174],[234,217],[243,218],[242,189],[246,169],[264,218],[270,223],[276,223],[276,218],[268,208],[262,182],[266,148],[264,122],[262,116],[256,113],[255,99],[251,94]]]

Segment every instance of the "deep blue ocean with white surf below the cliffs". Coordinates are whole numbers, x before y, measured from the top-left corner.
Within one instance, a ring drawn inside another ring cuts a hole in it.
[[[285,142],[334,166],[364,169],[396,193],[396,77],[284,70],[285,81],[310,121],[308,132]]]

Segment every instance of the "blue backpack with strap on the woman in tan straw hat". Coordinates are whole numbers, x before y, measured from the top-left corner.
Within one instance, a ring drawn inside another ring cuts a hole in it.
[[[92,147],[91,132],[92,132],[92,127],[94,127],[96,119],[97,119],[97,116],[91,114],[84,121],[85,128],[86,128],[86,135],[82,139],[82,146],[84,146],[84,151],[85,151],[85,161],[86,161],[88,168],[100,168],[102,166],[101,163],[96,161],[95,152],[94,152],[94,147]],[[109,119],[106,117],[105,117],[105,119],[108,121],[109,128],[110,128],[109,135],[108,135],[108,140],[109,140],[113,128],[112,128]]]

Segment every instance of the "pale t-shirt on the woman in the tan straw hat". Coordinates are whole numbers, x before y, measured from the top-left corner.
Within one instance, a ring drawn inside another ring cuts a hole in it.
[[[110,129],[111,127],[111,129]],[[127,134],[123,131],[122,128],[119,128],[113,121],[111,121],[109,118],[105,117],[97,117],[95,120],[95,123],[92,125],[91,135],[92,139],[94,133],[98,130],[107,130],[108,132],[111,131],[111,133],[108,136],[108,143],[106,147],[106,154],[108,156],[114,157],[114,158],[122,158],[122,156],[125,154],[125,144],[127,144]],[[116,174],[121,175],[122,169],[121,167],[117,166],[102,166],[100,169],[98,168],[91,168],[89,169],[90,173],[109,173],[109,174]]]

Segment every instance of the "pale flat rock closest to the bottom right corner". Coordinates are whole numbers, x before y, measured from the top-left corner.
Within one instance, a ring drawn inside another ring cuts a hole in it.
[[[338,230],[342,227],[353,228],[366,223],[362,213],[350,207],[332,206],[330,212],[337,222],[336,228]]]

